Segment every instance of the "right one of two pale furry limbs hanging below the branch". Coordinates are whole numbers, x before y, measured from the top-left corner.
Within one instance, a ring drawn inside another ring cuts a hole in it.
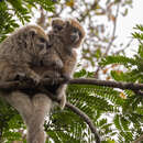
[[[50,113],[52,100],[44,94],[37,94],[32,99],[33,112],[28,124],[28,143],[45,143],[44,120]]]

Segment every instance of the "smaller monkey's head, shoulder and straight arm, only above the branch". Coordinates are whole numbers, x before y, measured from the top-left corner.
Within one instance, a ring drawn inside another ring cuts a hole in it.
[[[77,52],[85,37],[85,31],[80,23],[74,19],[62,20],[59,18],[52,21],[52,31],[48,34],[50,45],[57,52],[63,62],[62,76],[72,78],[76,63]]]

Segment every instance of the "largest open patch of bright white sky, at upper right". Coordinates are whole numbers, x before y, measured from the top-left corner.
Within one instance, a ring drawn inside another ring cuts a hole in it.
[[[129,9],[127,16],[119,16],[117,25],[117,34],[123,43],[131,40],[131,33],[136,24],[143,24],[143,0],[133,0],[133,8]],[[133,41],[130,48],[128,48],[128,56],[132,56],[138,50],[138,41]]]

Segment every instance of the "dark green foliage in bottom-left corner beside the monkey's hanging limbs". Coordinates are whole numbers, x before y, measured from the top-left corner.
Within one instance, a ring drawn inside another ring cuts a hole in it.
[[[7,105],[3,100],[0,100],[0,138],[1,142],[8,141],[20,141],[22,133],[20,128],[25,128],[20,114]]]

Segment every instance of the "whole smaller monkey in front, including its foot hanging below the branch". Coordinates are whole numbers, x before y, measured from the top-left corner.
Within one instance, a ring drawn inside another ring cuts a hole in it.
[[[56,53],[54,55],[56,59],[62,61],[63,67],[57,67],[58,70],[55,69],[54,72],[52,70],[52,73],[47,69],[43,76],[53,78],[57,73],[58,77],[63,77],[67,80],[70,79],[77,63],[77,52],[75,50],[80,46],[84,36],[85,31],[78,21],[74,19],[54,19],[52,21],[52,30],[48,32],[48,50],[52,48],[52,51]],[[43,63],[45,63],[46,59],[48,59],[48,57],[45,55]],[[55,85],[52,87],[48,86],[47,89],[51,92],[53,92],[53,89],[55,90],[54,95],[62,99],[61,107],[64,108],[66,103],[66,85]]]

